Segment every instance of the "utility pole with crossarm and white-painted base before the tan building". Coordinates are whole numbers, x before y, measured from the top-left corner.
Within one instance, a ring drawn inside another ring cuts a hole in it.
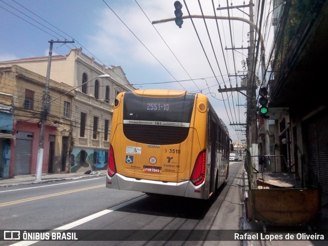
[[[47,76],[46,76],[46,86],[43,95],[43,104],[42,104],[42,113],[41,113],[41,126],[40,126],[40,136],[39,136],[39,148],[37,151],[37,162],[36,162],[36,173],[35,173],[35,180],[40,181],[42,177],[42,167],[43,167],[43,151],[44,151],[44,144],[45,144],[45,129],[47,123],[47,115],[48,115],[48,98],[49,98],[49,80],[50,80],[50,68],[51,68],[51,56],[52,56],[52,47],[53,43],[75,43],[74,40],[72,41],[48,41],[50,43],[49,48],[49,56],[48,56],[48,67],[47,67]]]

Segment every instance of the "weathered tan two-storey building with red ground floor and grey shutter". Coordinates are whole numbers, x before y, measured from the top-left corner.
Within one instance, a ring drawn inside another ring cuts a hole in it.
[[[40,119],[46,78],[23,67],[12,65],[0,69],[0,104],[7,107],[5,140],[2,140],[2,178],[36,173],[40,136]],[[63,103],[48,105],[44,137],[43,173],[67,171],[65,146],[72,131],[71,119],[63,114],[64,102],[72,105],[72,87],[49,81],[49,102],[63,95]],[[71,109],[68,109],[69,111]],[[2,117],[4,113],[2,111]],[[2,126],[2,128],[4,128]],[[1,138],[3,139],[3,138]],[[1,146],[0,146],[1,147]]]

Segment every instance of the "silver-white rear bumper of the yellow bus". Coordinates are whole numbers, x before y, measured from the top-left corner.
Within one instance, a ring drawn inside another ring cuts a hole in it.
[[[195,187],[189,180],[182,182],[162,182],[129,178],[116,173],[113,177],[107,174],[106,187],[117,190],[208,199],[204,195],[206,194],[204,185]]]

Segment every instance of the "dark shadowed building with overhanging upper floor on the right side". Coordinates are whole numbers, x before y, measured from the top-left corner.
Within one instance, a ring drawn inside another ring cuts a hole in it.
[[[268,83],[270,154],[276,171],[295,172],[299,186],[320,188],[328,204],[328,108],[320,61],[328,54],[328,1],[274,2],[280,8]],[[263,146],[263,118],[258,122]]]

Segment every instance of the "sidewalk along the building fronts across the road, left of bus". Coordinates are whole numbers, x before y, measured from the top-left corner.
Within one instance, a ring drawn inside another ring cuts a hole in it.
[[[20,176],[14,176],[14,178],[1,179],[0,188],[31,185],[37,183],[46,183],[46,182],[59,181],[59,180],[71,180],[71,179],[102,176],[102,175],[106,175],[106,172],[105,171],[103,171],[102,173],[97,172],[97,174],[84,174],[84,172],[43,174],[41,180],[39,181],[36,181],[35,176],[33,175],[20,175]]]

